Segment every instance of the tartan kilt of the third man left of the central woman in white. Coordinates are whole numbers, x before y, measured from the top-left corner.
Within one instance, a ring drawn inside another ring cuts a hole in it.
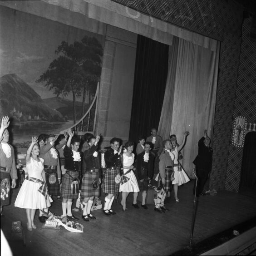
[[[73,172],[68,170],[69,174],[73,178],[79,177],[79,172]],[[68,199],[77,199],[78,198],[78,193],[72,194],[71,192],[71,183],[73,178],[69,176],[69,174],[66,172],[63,176],[62,184],[61,184],[61,189],[60,189],[60,196],[62,198],[68,198]]]

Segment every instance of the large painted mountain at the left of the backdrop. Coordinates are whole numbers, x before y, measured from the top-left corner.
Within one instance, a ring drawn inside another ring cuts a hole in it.
[[[44,103],[39,94],[16,74],[6,74],[0,78],[0,115],[6,114],[17,121],[65,121],[59,111]]]

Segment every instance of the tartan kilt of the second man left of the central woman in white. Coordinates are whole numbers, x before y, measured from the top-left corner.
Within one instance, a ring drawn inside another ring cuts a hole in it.
[[[99,197],[99,186],[94,189],[92,183],[95,179],[99,179],[99,172],[85,172],[81,187],[80,198],[84,197]]]

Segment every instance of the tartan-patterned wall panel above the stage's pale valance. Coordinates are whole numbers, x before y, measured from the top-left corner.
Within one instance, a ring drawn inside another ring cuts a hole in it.
[[[240,34],[241,7],[232,0],[113,0],[154,18],[223,40],[224,32]],[[131,17],[139,16],[136,12]]]

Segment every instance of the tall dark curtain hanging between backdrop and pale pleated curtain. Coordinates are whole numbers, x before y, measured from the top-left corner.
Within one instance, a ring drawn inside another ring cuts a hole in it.
[[[168,48],[138,35],[129,140],[158,128],[168,72]]]

